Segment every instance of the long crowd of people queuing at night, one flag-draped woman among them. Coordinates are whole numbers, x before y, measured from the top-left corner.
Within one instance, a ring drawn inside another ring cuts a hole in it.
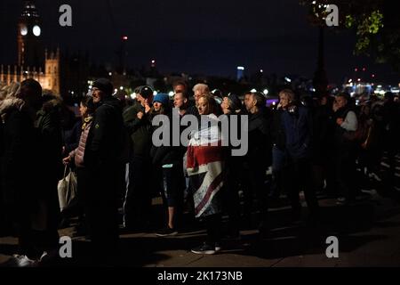
[[[43,94],[33,79],[2,88],[0,225],[19,238],[20,252],[14,256],[19,265],[58,253],[57,230],[68,226],[71,216],[60,215],[57,197],[63,164],[77,175],[77,232],[91,240],[92,255],[102,258],[116,256],[121,227],[150,229],[156,196],[162,197],[165,216],[157,217],[164,228],[155,234],[175,235],[188,226],[183,216],[196,217],[207,234],[191,251],[214,254],[222,240],[240,239],[242,224],[255,221],[261,234],[268,233],[270,201],[281,194],[290,201],[292,221],[299,221],[304,191],[307,221],[318,224],[317,192],[351,205],[361,191],[359,182],[373,177],[384,183],[386,193],[398,191],[400,107],[394,94],[383,100],[371,95],[356,104],[345,93],[300,98],[284,89],[271,108],[260,93],[245,93],[242,101],[236,94],[210,92],[204,84],[190,89],[183,81],[173,91],[171,100],[139,86],[128,103],[100,78],[80,103],[81,118],[74,120],[65,115],[60,97]],[[156,145],[152,137],[160,126],[153,121],[157,115],[173,120],[173,109],[180,119],[192,115],[219,122],[225,115],[228,126],[233,116],[239,122],[247,116],[248,151],[233,156],[237,145],[220,143],[220,125],[202,120],[187,143]],[[383,156],[389,165],[384,178]]]

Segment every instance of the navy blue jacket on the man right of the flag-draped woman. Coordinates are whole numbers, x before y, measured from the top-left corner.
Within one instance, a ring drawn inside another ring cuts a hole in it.
[[[311,157],[312,118],[307,108],[296,106],[294,111],[284,110],[282,122],[286,140],[286,150],[292,159]]]

